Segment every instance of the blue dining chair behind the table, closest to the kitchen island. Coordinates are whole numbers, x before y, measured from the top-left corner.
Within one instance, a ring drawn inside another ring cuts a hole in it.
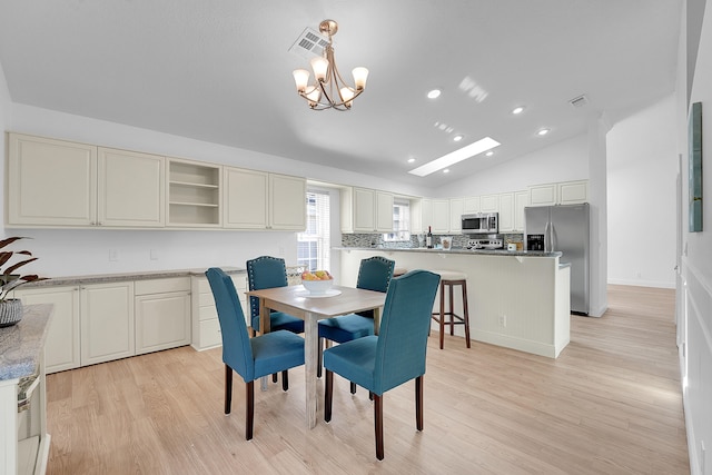
[[[385,257],[374,256],[360,260],[356,287],[383,291],[388,290],[388,284],[393,278],[396,263]],[[319,320],[319,352],[330,342],[346,343],[374,334],[374,311],[366,310],[358,314],[342,315],[334,318]],[[317,376],[322,377],[322,358],[317,367]],[[352,394],[356,393],[356,385],[352,383]]]

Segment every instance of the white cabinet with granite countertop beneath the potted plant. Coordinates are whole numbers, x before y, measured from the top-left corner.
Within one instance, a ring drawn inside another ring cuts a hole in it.
[[[44,340],[51,305],[0,328],[0,474],[43,474],[49,457]]]

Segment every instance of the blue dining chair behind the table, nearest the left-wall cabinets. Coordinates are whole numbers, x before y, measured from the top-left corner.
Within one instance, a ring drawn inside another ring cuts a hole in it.
[[[287,267],[285,259],[271,256],[261,256],[247,261],[247,281],[250,290],[261,290],[273,287],[287,286]],[[249,298],[250,325],[253,335],[259,330],[259,298]],[[283,311],[269,314],[270,331],[288,330],[304,333],[304,320]]]

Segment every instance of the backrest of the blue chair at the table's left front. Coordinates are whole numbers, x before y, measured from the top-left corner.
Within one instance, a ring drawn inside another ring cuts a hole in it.
[[[243,376],[245,382],[254,380],[255,358],[235,284],[230,276],[217,267],[209,268],[205,275],[210,283],[218,310],[222,336],[222,362]]]

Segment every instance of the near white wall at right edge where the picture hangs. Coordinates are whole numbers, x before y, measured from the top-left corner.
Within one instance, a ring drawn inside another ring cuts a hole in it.
[[[690,4],[693,3],[693,4]],[[682,257],[679,293],[683,315],[681,367],[683,404],[691,473],[712,471],[712,6],[703,0],[688,2],[693,11],[704,10],[700,48],[692,80],[691,103],[702,102],[703,231],[689,232],[688,148],[680,147],[682,167]],[[685,16],[683,16],[685,18]],[[688,34],[694,34],[693,31]],[[681,41],[686,41],[686,36]],[[696,38],[693,38],[696,41]],[[694,59],[694,58],[692,58]],[[681,55],[680,61],[685,61]],[[678,83],[685,83],[684,69],[679,68]],[[686,91],[679,91],[683,113],[679,117],[679,140],[684,144],[688,130]],[[705,448],[703,452],[702,447]]]

